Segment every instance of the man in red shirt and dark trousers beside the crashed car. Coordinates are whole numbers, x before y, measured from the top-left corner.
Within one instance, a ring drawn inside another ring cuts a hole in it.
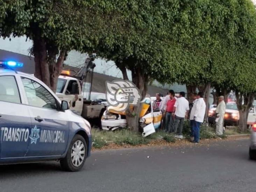
[[[174,126],[174,119],[172,116],[172,113],[174,113],[174,104],[176,102],[175,99],[175,93],[172,91],[170,94],[170,100],[168,100],[166,104],[166,115],[165,115],[165,131],[166,132],[173,132],[173,126]]]

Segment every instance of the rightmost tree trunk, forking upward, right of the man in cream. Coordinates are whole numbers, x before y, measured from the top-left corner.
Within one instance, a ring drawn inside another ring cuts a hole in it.
[[[238,93],[236,92],[236,104],[239,110],[239,129],[240,131],[246,131],[247,119],[250,111],[250,107],[254,101],[254,93]]]

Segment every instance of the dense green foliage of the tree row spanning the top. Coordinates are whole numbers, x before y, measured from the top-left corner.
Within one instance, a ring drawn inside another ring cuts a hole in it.
[[[0,0],[0,36],[33,40],[35,75],[52,90],[74,49],[115,61],[126,79],[130,70],[143,96],[156,79],[251,98],[255,14],[250,0]]]

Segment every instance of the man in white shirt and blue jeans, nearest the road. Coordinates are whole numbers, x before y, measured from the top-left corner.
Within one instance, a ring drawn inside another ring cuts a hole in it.
[[[206,104],[204,101],[204,93],[199,92],[197,96],[197,102],[195,104],[194,111],[194,121],[193,121],[193,132],[194,132],[194,140],[193,143],[199,143],[200,138],[200,126],[202,122],[204,122],[206,111]]]

